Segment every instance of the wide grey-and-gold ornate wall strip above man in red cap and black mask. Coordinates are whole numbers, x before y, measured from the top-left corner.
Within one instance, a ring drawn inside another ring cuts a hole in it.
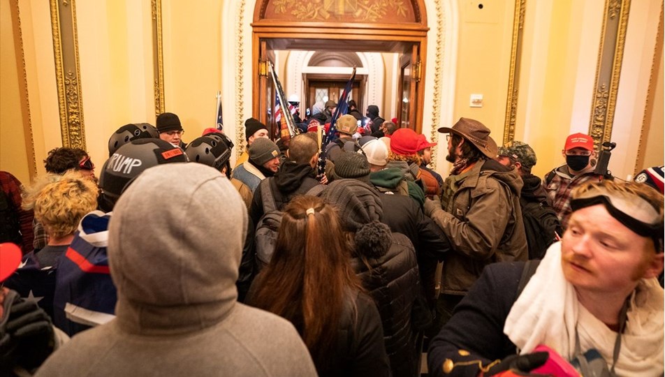
[[[597,149],[612,136],[629,10],[630,0],[606,0],[589,125]]]

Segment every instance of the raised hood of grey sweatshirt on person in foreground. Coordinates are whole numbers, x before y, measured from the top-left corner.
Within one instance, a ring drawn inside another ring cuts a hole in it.
[[[116,316],[131,334],[201,330],[230,313],[247,232],[233,184],[200,163],[157,165],[119,198],[108,257]]]

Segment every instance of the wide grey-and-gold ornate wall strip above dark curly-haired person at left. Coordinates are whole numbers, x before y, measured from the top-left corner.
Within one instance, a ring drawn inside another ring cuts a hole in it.
[[[74,0],[50,0],[62,145],[85,149]]]

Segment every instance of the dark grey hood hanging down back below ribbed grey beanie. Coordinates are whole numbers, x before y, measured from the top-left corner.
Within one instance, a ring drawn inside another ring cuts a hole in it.
[[[379,193],[356,179],[335,180],[320,196],[337,209],[342,227],[349,232],[357,232],[372,221],[381,221],[383,216]]]

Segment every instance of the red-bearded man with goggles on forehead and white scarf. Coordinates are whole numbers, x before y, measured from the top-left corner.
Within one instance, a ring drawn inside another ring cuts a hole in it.
[[[634,182],[588,182],[571,209],[562,242],[535,272],[485,268],[432,339],[430,375],[529,372],[560,357],[559,367],[583,376],[662,376],[663,196]]]

